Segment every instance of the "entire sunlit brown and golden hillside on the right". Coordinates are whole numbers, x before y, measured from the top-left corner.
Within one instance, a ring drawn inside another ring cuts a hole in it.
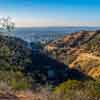
[[[51,42],[45,49],[70,68],[100,79],[100,31],[72,33]]]

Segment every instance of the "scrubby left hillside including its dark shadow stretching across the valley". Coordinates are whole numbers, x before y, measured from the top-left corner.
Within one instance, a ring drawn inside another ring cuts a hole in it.
[[[19,38],[0,36],[0,88],[27,89],[36,88],[38,84],[56,86],[67,79],[87,78],[34,48],[28,48],[28,43]]]

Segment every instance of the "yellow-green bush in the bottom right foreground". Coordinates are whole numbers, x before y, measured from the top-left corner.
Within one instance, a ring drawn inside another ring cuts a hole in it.
[[[54,95],[59,100],[99,100],[100,82],[68,80],[54,89]]]

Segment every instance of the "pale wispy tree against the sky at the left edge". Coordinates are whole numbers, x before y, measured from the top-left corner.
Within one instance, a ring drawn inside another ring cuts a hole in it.
[[[11,17],[2,17],[0,18],[0,27],[4,31],[11,32],[14,29],[14,22],[12,21]]]

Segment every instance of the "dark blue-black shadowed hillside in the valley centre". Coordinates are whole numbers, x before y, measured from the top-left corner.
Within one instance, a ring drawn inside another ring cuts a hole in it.
[[[50,82],[53,84],[61,83],[67,79],[84,80],[86,76],[75,69],[69,69],[67,65],[48,57],[43,53],[33,53],[32,55],[34,72],[37,72],[37,77],[41,73],[40,77],[45,76],[45,82]],[[29,69],[28,69],[29,70]],[[28,71],[27,70],[27,71]],[[42,80],[39,79],[40,82]]]

